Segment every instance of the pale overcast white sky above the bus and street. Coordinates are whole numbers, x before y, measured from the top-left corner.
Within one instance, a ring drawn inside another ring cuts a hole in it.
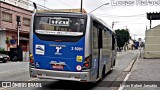
[[[81,0],[31,0],[50,9],[80,8]],[[108,5],[103,5],[109,3]],[[109,26],[114,23],[115,29],[129,29],[133,39],[145,38],[146,28],[150,28],[147,12],[160,12],[160,0],[83,0],[83,8],[104,20]],[[152,27],[160,24],[159,20],[152,21]]]

